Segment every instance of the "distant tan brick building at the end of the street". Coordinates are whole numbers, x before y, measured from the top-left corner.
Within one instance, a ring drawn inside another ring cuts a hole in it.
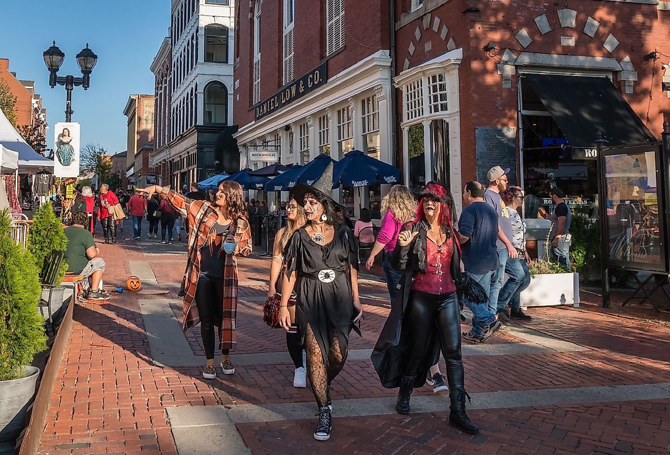
[[[149,167],[153,150],[155,98],[153,95],[131,95],[123,115],[128,118],[126,177],[129,183],[146,187],[156,182],[155,170]]]

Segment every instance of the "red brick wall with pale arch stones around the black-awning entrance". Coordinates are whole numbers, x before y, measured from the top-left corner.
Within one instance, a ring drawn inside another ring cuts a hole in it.
[[[408,3],[397,0],[398,5]],[[561,28],[557,9],[564,3],[555,5],[541,0],[525,0],[523,2],[505,0],[498,2],[449,1],[431,11],[432,17],[438,15],[449,28],[449,35],[454,36],[458,47],[463,48],[463,62],[459,70],[460,80],[460,112],[461,112],[461,149],[463,178],[472,179],[476,176],[474,156],[474,131],[476,126],[514,126],[517,128],[517,77],[512,78],[512,88],[502,88],[502,76],[497,74],[498,62],[487,57],[482,51],[489,41],[496,43],[498,48],[523,50],[542,54],[572,54],[616,58],[621,61],[630,56],[638,74],[634,82],[632,94],[626,94],[624,82],[614,80],[633,110],[647,124],[651,132],[660,138],[663,119],[670,120],[670,100],[665,92],[661,92],[661,62],[667,63],[670,58],[661,57],[656,64],[645,62],[645,54],[657,49],[670,56],[670,11],[658,11],[656,5],[621,3],[612,1],[584,0],[571,2],[567,7],[578,11],[576,25],[573,28]],[[523,3],[523,4],[522,4]],[[479,12],[463,13],[469,6],[480,7]],[[406,5],[405,10],[409,9]],[[400,15],[402,11],[398,12]],[[552,31],[541,35],[533,19],[543,13]],[[591,38],[584,33],[584,25],[588,17],[600,22],[596,35]],[[424,33],[417,45],[414,31],[419,25]],[[525,27],[533,42],[522,48],[515,39],[516,33]],[[612,54],[602,47],[602,43],[612,33],[620,43]],[[438,35],[435,39],[433,36]],[[574,47],[561,46],[561,36],[576,38]],[[432,49],[424,52],[423,44],[427,39],[432,41]],[[407,48],[413,40],[417,49],[409,57],[410,67],[431,60],[446,52],[446,42],[442,43],[439,32],[424,30],[421,19],[412,21],[397,31],[397,72],[401,72],[405,58],[409,56]],[[519,52],[515,52],[519,55]],[[498,57],[502,52],[498,52]],[[652,74],[653,85],[652,85]],[[649,99],[651,90],[652,99]],[[399,118],[402,104],[398,100]],[[649,121],[647,122],[647,111]],[[399,136],[401,137],[401,136]],[[400,141],[399,141],[400,142]],[[399,149],[402,145],[399,144]],[[518,149],[518,137],[517,137]],[[518,151],[517,151],[518,153]]]

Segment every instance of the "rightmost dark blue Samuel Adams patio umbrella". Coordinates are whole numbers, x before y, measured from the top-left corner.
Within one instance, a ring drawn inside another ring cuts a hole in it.
[[[345,187],[399,183],[400,169],[369,157],[360,150],[352,150],[335,163],[333,181]]]

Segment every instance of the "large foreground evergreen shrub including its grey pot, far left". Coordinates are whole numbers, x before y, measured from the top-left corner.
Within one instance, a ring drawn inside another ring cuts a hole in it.
[[[30,364],[46,349],[37,310],[40,290],[34,258],[11,239],[5,209],[0,212],[0,443],[19,436],[35,395],[40,369]]]

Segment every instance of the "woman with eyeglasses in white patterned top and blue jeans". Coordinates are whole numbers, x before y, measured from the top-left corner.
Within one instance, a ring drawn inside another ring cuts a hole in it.
[[[509,279],[500,289],[498,294],[498,308],[511,305],[509,316],[513,319],[532,319],[521,310],[521,292],[531,284],[531,274],[528,272],[529,262],[526,251],[526,223],[519,215],[519,207],[523,205],[523,191],[519,187],[509,187],[502,195],[505,201],[507,214],[512,221],[512,244],[517,249],[519,256],[516,259],[507,260],[506,267],[516,269],[516,273],[508,274]]]

